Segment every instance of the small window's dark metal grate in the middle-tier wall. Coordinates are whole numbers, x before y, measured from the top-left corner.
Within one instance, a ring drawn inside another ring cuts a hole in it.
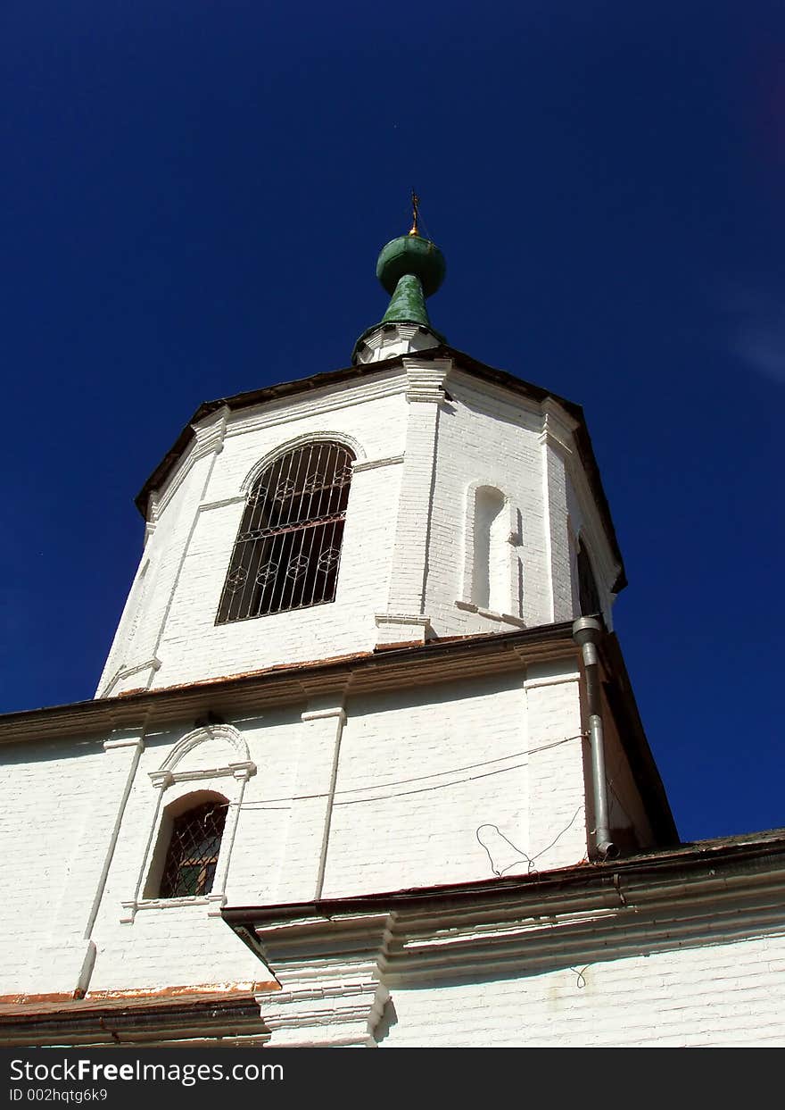
[[[225,801],[207,801],[175,817],[161,878],[161,898],[210,894],[225,820]]]

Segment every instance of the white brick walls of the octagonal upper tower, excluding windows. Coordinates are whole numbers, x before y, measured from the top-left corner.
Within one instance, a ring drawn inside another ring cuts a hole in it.
[[[214,413],[152,498],[152,533],[99,695],[518,626],[501,614],[528,626],[568,619],[570,529],[588,536],[610,619],[614,568],[571,427],[552,402],[527,402],[446,360],[407,359],[349,386]],[[343,440],[358,458],[336,601],[216,627],[253,475],[282,445],[316,434]],[[510,586],[496,618],[456,605],[470,601],[467,506],[477,485],[507,500]]]

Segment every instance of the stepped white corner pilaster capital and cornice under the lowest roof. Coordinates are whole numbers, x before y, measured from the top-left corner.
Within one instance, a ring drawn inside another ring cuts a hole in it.
[[[233,910],[224,917],[281,981],[297,1043],[330,1043],[341,1036],[338,1001],[350,1012],[358,996],[370,997],[374,979],[379,1000],[397,988],[461,979],[562,971],[574,981],[575,966],[783,936],[782,846],[757,864],[695,852],[680,866],[677,851],[656,879],[641,857],[615,870],[579,864],[504,886],[481,881],[458,897],[444,889],[420,898],[380,895],[365,911],[337,900],[329,917],[274,921],[264,908],[241,911],[242,920]],[[269,1011],[283,1028],[273,996],[257,1001],[263,1018]]]

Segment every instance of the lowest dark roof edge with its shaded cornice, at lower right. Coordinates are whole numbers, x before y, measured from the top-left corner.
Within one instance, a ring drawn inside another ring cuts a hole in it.
[[[434,986],[782,930],[784,896],[785,829],[773,829],[542,874],[224,907],[222,916],[284,990],[314,960],[345,976],[375,967],[388,987]]]

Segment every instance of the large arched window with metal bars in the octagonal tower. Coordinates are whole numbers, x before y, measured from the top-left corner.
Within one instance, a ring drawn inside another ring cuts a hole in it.
[[[216,624],[335,601],[354,455],[309,443],[256,480],[235,541]]]

